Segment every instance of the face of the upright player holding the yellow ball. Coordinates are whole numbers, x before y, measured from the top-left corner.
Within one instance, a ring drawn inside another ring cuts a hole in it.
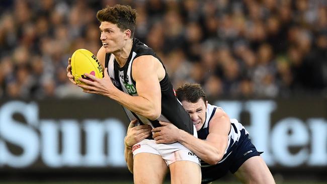
[[[99,26],[102,46],[106,49],[106,53],[115,53],[123,49],[126,43],[126,34],[122,32],[116,24],[111,22],[101,22]]]

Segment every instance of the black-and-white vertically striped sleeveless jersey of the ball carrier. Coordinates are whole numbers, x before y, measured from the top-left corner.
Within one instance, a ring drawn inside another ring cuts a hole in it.
[[[108,74],[113,84],[126,94],[131,96],[138,96],[136,90],[136,82],[132,76],[132,64],[134,59],[143,55],[151,55],[158,59],[162,64],[160,58],[155,52],[140,42],[138,39],[133,38],[133,46],[129,57],[123,67],[120,67],[115,59],[114,54],[107,53],[105,60],[105,67],[108,67]],[[163,68],[165,66],[162,64]],[[144,68],[144,70],[146,67]],[[166,68],[165,68],[166,70]],[[158,121],[173,122],[173,124],[190,134],[194,134],[193,123],[189,114],[185,111],[182,104],[177,100],[173,85],[166,72],[165,78],[160,82],[161,88],[161,115],[157,120],[149,120],[141,115],[131,112],[129,109],[124,108],[130,120],[139,120],[140,123],[150,125],[152,127],[160,127]],[[148,89],[151,90],[151,89]]]

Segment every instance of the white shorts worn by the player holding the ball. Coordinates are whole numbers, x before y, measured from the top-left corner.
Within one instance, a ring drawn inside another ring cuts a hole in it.
[[[194,128],[194,130],[196,130]],[[195,131],[195,137],[197,133]],[[200,165],[200,159],[179,142],[173,144],[156,144],[154,140],[144,139],[132,147],[133,157],[138,153],[153,153],[160,155],[166,164],[176,161],[192,161]]]

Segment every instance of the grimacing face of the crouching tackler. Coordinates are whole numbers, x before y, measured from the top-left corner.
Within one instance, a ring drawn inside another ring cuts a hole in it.
[[[208,102],[204,102],[202,98],[196,103],[191,103],[187,101],[182,102],[184,109],[186,110],[186,112],[189,113],[192,119],[196,131],[199,131],[201,129],[206,119],[207,103]]]

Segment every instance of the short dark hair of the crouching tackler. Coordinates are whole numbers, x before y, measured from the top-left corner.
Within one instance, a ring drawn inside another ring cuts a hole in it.
[[[179,101],[187,101],[191,103],[198,102],[201,98],[204,103],[207,102],[206,94],[198,83],[185,83],[176,89],[176,96]]]

